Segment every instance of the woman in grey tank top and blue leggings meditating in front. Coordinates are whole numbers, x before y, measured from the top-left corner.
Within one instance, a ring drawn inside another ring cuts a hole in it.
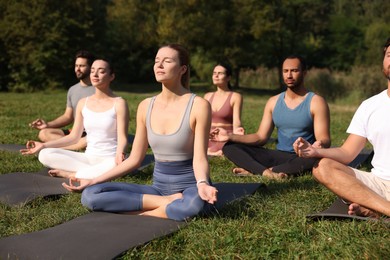
[[[188,52],[177,44],[161,47],[154,73],[162,91],[138,106],[129,158],[95,179],[76,180],[78,187],[72,181],[64,184],[72,191],[85,188],[82,203],[92,210],[184,220],[198,214],[205,202],[217,200],[207,161],[211,110],[206,100],[189,90]],[[135,170],[148,145],[156,159],[153,185],[103,183]]]

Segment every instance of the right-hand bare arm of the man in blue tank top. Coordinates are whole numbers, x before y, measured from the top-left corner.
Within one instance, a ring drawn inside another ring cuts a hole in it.
[[[313,116],[314,137],[321,147],[330,147],[330,113],[325,99],[315,95],[311,101],[310,110]]]

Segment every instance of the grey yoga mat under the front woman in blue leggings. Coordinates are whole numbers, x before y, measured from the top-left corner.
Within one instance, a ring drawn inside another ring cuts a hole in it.
[[[260,183],[217,183],[221,209],[253,194]],[[112,259],[132,247],[166,236],[186,222],[92,212],[55,227],[0,240],[0,259]]]

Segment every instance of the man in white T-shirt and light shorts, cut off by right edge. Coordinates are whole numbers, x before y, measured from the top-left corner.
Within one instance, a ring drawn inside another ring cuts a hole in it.
[[[313,168],[314,177],[329,190],[350,202],[348,214],[390,216],[390,38],[384,46],[383,73],[387,89],[365,100],[357,109],[341,147],[318,149],[302,138],[294,143],[301,157],[323,158]],[[346,166],[369,141],[374,149],[371,172]]]

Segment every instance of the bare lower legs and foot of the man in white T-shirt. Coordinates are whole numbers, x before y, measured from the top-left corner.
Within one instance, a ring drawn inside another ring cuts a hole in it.
[[[377,217],[390,216],[390,201],[356,178],[350,167],[324,158],[313,168],[314,178],[330,191],[351,203],[348,214]]]

